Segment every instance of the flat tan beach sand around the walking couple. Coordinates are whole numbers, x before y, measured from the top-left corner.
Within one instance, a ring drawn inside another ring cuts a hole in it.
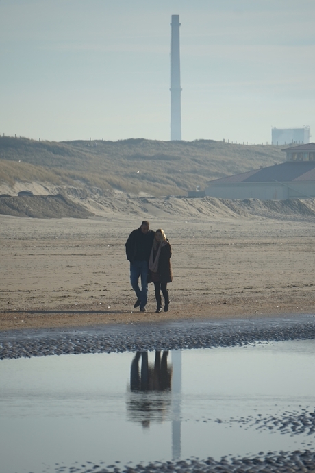
[[[0,215],[0,330],[314,313],[315,222],[149,218],[173,249],[170,311],[134,309],[125,241],[140,216]]]

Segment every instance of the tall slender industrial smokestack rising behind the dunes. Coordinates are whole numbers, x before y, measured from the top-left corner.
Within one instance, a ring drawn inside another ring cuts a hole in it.
[[[171,16],[171,141],[181,140],[181,63],[179,15]]]

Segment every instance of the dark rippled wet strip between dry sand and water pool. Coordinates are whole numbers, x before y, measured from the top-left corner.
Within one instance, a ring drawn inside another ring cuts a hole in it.
[[[81,353],[186,350],[315,339],[315,316],[121,324],[0,332],[0,359]]]

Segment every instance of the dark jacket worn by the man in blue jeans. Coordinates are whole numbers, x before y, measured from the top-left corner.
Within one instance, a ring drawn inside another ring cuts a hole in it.
[[[134,261],[149,262],[155,232],[142,233],[141,227],[133,230],[126,241],[126,255],[130,263]]]

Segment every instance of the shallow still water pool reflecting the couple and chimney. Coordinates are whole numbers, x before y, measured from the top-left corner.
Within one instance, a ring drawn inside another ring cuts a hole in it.
[[[308,340],[0,361],[2,471],[314,450],[314,359]]]

